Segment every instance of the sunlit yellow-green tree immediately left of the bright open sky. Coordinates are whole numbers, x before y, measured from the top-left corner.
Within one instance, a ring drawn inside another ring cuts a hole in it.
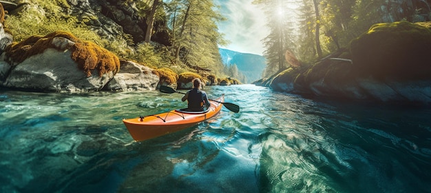
[[[177,62],[191,68],[220,68],[218,45],[224,45],[217,22],[224,18],[211,0],[174,0],[169,4]]]

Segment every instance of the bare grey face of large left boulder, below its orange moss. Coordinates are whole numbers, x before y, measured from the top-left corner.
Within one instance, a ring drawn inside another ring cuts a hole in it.
[[[37,92],[90,92],[101,90],[114,77],[114,72],[87,77],[71,54],[70,50],[48,48],[28,57],[12,68],[3,86]]]

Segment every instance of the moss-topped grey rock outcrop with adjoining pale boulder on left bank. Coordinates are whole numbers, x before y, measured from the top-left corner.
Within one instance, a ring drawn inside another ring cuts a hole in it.
[[[67,32],[8,45],[0,58],[1,86],[36,92],[154,90],[151,71],[130,61],[120,70],[114,54]]]

